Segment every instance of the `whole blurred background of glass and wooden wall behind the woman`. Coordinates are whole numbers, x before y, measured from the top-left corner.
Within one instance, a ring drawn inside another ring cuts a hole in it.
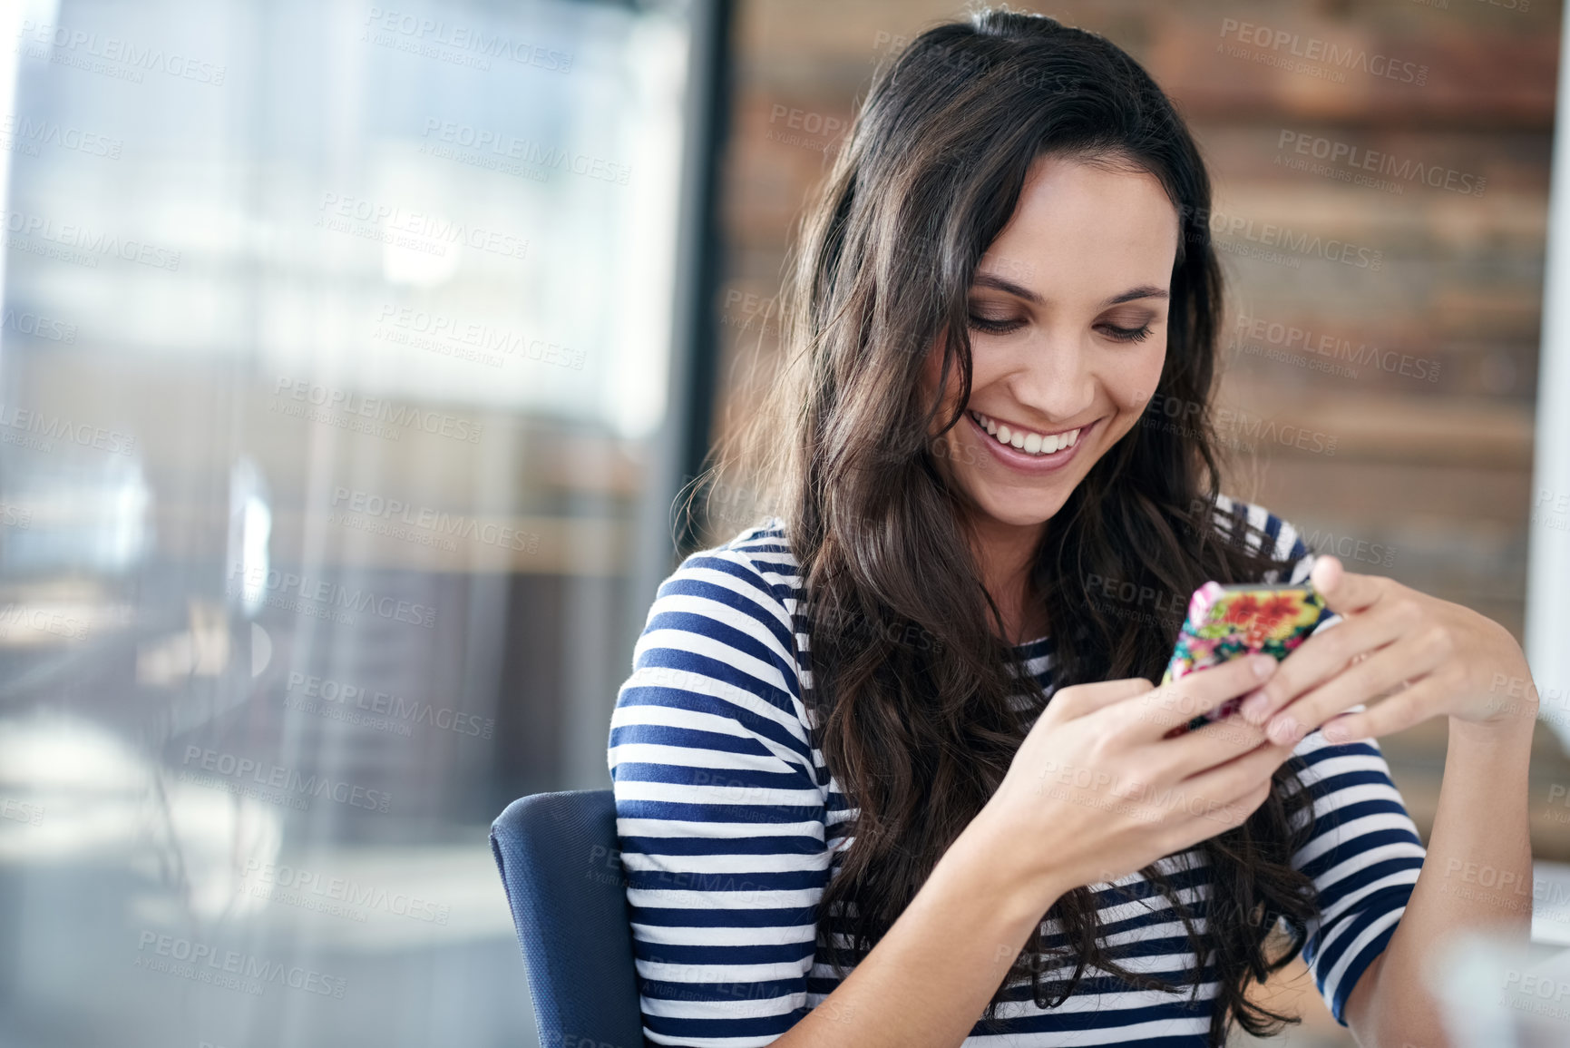
[[[1210,165],[1223,490],[1562,622],[1559,5],[1027,9],[1145,63]],[[768,382],[801,207],[962,11],[0,5],[0,1045],[535,1043],[490,820],[609,787],[656,584],[757,519],[678,493]],[[1529,654],[1553,952],[1570,704]],[[1444,726],[1385,751],[1427,834]],[[1352,1043],[1300,969],[1273,993],[1278,1043]]]

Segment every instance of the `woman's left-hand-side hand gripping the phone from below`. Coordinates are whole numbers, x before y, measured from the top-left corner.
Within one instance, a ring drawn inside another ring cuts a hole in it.
[[[1239,716],[1165,735],[1275,668],[1248,655],[1160,688],[1132,677],[1055,691],[981,817],[1053,897],[1240,825],[1294,743],[1275,745]]]

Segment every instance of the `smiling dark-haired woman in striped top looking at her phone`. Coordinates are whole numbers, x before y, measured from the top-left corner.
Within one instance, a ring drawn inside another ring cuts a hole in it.
[[[1289,1020],[1250,988],[1298,954],[1364,1042],[1441,1043],[1416,958],[1495,918],[1419,885],[1358,738],[1449,715],[1435,852],[1524,875],[1520,723],[1463,698],[1524,663],[1221,493],[1209,214],[1184,123],[1101,36],[984,11],[876,77],[741,448],[772,512],[659,588],[612,715],[653,1043],[1218,1048]],[[1160,690],[1178,622],[1099,599],[1311,573],[1338,614],[1280,669]],[[1408,679],[1421,702],[1317,731]]]

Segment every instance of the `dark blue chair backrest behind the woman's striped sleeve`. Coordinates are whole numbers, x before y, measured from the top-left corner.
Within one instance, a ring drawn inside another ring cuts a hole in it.
[[[611,790],[532,793],[491,823],[542,1048],[642,1048]]]

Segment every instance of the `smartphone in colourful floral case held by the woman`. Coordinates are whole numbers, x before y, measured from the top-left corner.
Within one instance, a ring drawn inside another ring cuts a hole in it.
[[[1206,583],[1193,591],[1188,616],[1178,632],[1171,661],[1162,683],[1185,677],[1196,669],[1217,666],[1239,655],[1264,652],[1286,658],[1333,611],[1309,584],[1270,586],[1237,583],[1223,586]],[[1179,724],[1167,737],[1181,735],[1201,724],[1218,721],[1237,712],[1243,696],[1234,696],[1209,713]]]

